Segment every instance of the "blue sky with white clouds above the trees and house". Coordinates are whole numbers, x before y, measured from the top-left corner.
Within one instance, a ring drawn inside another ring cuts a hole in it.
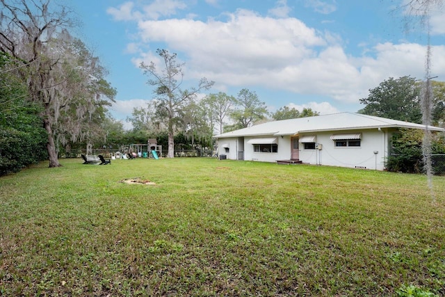
[[[422,79],[425,27],[408,0],[76,0],[82,40],[110,72],[119,120],[152,99],[140,62],[168,49],[186,83],[215,81],[209,93],[255,91],[270,111],[310,107],[357,111],[389,77]],[[398,8],[398,9],[397,9]],[[445,78],[444,8],[431,11],[432,76]],[[406,18],[410,22],[406,22]],[[408,25],[408,26],[406,26]],[[408,29],[408,30],[407,30]],[[127,126],[128,127],[128,126]]]

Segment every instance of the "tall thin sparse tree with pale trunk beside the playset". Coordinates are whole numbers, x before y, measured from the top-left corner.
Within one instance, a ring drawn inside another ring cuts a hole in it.
[[[156,53],[163,60],[163,68],[160,70],[154,62],[149,65],[140,63],[140,68],[149,77],[147,83],[154,86],[154,94],[159,100],[156,112],[165,113],[168,121],[168,157],[175,156],[175,122],[178,120],[178,113],[184,104],[195,99],[201,90],[208,90],[213,86],[213,81],[206,78],[200,79],[197,87],[186,90],[181,89],[184,79],[182,66],[184,63],[177,62],[177,54],[170,54],[166,49],[157,49]]]

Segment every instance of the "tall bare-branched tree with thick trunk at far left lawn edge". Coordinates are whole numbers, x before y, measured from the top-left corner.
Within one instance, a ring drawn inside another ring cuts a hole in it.
[[[49,167],[58,167],[60,163],[51,127],[51,108],[57,102],[54,86],[58,81],[51,74],[60,65],[60,57],[50,44],[71,24],[71,20],[65,7],[51,11],[49,0],[33,2],[31,7],[28,3],[20,0],[8,4],[6,0],[0,0],[0,50],[22,64],[20,74],[24,81],[29,80],[31,101],[44,107],[41,116],[48,134]]]

